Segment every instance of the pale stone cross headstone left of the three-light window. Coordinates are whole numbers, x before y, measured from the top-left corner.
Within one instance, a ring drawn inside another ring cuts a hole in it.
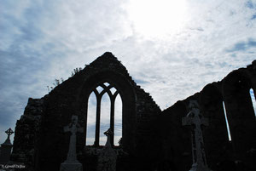
[[[67,160],[61,163],[60,171],[82,171],[83,165],[77,160],[76,142],[77,132],[82,133],[83,128],[78,123],[78,116],[72,116],[72,123],[64,127],[64,132],[71,132]]]

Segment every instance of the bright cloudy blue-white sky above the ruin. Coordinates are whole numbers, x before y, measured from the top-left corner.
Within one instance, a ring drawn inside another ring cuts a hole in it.
[[[255,27],[255,0],[0,0],[0,143],[29,97],[106,51],[163,110],[251,64]]]

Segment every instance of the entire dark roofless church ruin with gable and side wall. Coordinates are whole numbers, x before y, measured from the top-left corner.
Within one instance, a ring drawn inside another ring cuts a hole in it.
[[[255,171],[256,120],[250,90],[256,94],[256,60],[161,111],[107,52],[43,98],[28,100],[16,123],[10,160],[24,163],[26,171],[59,171],[68,157],[80,163],[79,171]],[[91,93],[96,94],[96,128],[94,144],[86,145]],[[111,105],[105,146],[100,145],[103,94]],[[118,94],[122,138],[114,145]]]

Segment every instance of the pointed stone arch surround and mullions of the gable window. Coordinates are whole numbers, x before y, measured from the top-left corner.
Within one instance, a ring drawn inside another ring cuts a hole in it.
[[[87,118],[87,108],[88,108],[88,98],[89,94],[93,91],[97,98],[97,110],[96,110],[96,142],[95,145],[99,146],[99,133],[100,133],[100,105],[103,94],[108,94],[111,101],[110,110],[113,116],[110,119],[111,128],[114,131],[114,102],[116,97],[119,95],[122,101],[122,146],[126,151],[134,151],[135,148],[135,130],[136,130],[136,94],[132,84],[127,80],[127,78],[116,71],[101,71],[98,72],[88,79],[84,80],[84,86],[81,89],[81,94],[79,95],[78,103],[80,105],[80,111],[84,113],[84,117]],[[97,91],[97,87],[101,86],[103,89],[101,92]],[[112,88],[115,88],[114,92]],[[114,93],[113,93],[114,92]],[[87,121],[85,119],[85,123]],[[128,124],[129,123],[129,124]],[[113,125],[113,126],[112,126]],[[87,127],[85,125],[85,127]],[[86,139],[86,134],[84,134]],[[111,139],[112,144],[114,144],[114,137]],[[116,145],[116,144],[115,144]]]

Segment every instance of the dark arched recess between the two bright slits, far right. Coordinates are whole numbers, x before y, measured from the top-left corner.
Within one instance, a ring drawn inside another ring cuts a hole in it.
[[[255,114],[250,95],[252,82],[245,70],[232,71],[223,80],[224,105],[230,124],[232,145],[242,157],[256,138]]]

